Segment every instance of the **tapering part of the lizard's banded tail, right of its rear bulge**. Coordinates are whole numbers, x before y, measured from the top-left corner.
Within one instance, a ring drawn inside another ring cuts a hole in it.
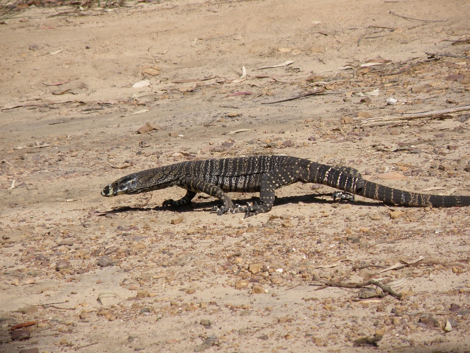
[[[361,189],[356,189],[354,194],[364,196],[368,199],[393,203],[402,206],[454,207],[470,205],[470,196],[443,196],[419,194],[394,189],[367,180],[364,180],[363,185],[364,186]]]

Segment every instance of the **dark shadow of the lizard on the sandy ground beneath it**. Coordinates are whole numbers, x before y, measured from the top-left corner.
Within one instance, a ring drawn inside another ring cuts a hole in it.
[[[328,199],[324,199],[324,197],[328,197]],[[259,197],[251,197],[245,199],[232,199],[234,204],[238,203],[240,205],[246,205],[247,202],[259,202]],[[287,205],[289,203],[298,203],[303,202],[304,204],[334,204],[334,203],[342,203],[342,204],[351,204],[355,206],[383,206],[383,202],[377,201],[333,201],[331,198],[331,193],[327,194],[307,194],[307,195],[299,195],[299,196],[285,196],[285,197],[276,197],[273,208],[276,206]],[[191,202],[188,205],[181,206],[178,208],[172,207],[163,207],[163,206],[120,206],[113,208],[112,210],[105,211],[103,214],[113,214],[113,213],[121,213],[121,212],[135,212],[135,211],[172,211],[172,212],[207,212],[207,209],[212,208],[213,206],[220,205],[220,201],[213,200],[213,201],[202,201],[202,202]]]

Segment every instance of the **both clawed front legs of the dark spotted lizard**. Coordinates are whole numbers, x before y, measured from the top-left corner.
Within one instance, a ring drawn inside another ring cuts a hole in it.
[[[164,202],[164,205],[166,204],[166,205],[179,206],[184,203],[176,204],[177,202],[188,199],[188,201],[186,202],[188,203],[196,195],[196,193],[203,192],[213,197],[216,197],[222,202],[221,207],[219,208],[214,207],[212,209],[212,211],[216,211],[218,215],[222,215],[234,209],[234,204],[232,202],[232,199],[230,199],[230,197],[227,194],[225,194],[221,188],[219,188],[218,186],[214,184],[208,183],[202,179],[199,179],[194,176],[183,176],[178,180],[176,185],[182,187],[183,189],[188,190],[186,193],[186,196],[178,201],[166,200]]]

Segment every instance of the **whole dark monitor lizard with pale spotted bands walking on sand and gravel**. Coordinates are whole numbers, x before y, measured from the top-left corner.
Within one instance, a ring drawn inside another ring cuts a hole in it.
[[[403,206],[470,205],[470,196],[402,191],[367,181],[353,168],[331,167],[308,159],[282,155],[207,159],[147,169],[121,177],[106,186],[101,195],[139,194],[179,186],[187,190],[186,195],[177,201],[166,200],[164,206],[188,204],[198,192],[204,192],[222,202],[222,206],[213,208],[219,215],[246,212],[245,216],[253,216],[271,209],[276,189],[298,181],[328,185],[346,193]],[[227,192],[259,192],[260,202],[246,207],[234,205]]]

